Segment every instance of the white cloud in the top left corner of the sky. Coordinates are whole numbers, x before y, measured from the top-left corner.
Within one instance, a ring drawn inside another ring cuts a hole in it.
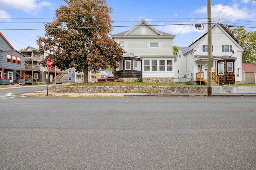
[[[37,14],[43,7],[51,7],[49,1],[38,0],[1,0],[2,9],[23,10],[24,12]]]

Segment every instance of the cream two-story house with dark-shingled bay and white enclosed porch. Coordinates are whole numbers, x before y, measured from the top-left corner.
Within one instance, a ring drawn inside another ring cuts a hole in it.
[[[132,29],[114,34],[112,39],[123,47],[123,61],[114,71],[115,80],[169,82],[174,79],[172,41],[174,35],[156,30],[145,20]]]

